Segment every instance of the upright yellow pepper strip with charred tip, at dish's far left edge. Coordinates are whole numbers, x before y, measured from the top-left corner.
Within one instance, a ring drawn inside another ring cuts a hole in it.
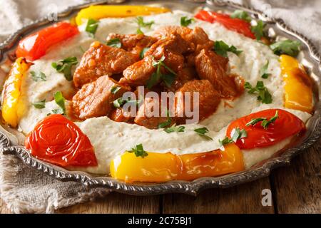
[[[9,76],[4,83],[4,93],[2,98],[2,118],[4,121],[16,127],[19,121],[19,98],[21,95],[21,81],[26,76],[31,63],[27,63],[25,58],[17,58],[11,67]]]

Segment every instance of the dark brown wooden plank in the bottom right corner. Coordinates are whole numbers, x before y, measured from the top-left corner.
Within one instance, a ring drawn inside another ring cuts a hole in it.
[[[271,180],[278,213],[321,213],[321,139]]]

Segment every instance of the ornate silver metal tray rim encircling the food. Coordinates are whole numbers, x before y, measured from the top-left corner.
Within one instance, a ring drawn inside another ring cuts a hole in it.
[[[81,182],[83,185],[89,187],[106,187],[110,190],[117,192],[123,192],[131,195],[156,195],[169,192],[182,192],[190,195],[196,195],[200,190],[212,187],[231,187],[244,182],[250,182],[257,180],[261,177],[265,177],[270,174],[270,171],[276,167],[283,165],[289,165],[290,160],[300,152],[307,150],[308,147],[313,145],[321,136],[321,58],[317,49],[313,44],[300,33],[293,31],[281,19],[273,19],[268,16],[264,16],[263,12],[242,6],[240,4],[234,4],[229,1],[95,1],[91,4],[83,4],[80,6],[74,6],[66,11],[58,14],[58,20],[66,19],[69,16],[75,14],[78,10],[83,9],[92,4],[151,4],[153,6],[165,6],[171,9],[181,9],[184,11],[197,11],[200,8],[211,9],[214,11],[233,11],[235,9],[242,9],[248,11],[254,18],[262,19],[267,23],[272,33],[276,33],[277,36],[285,36],[287,38],[299,40],[302,43],[302,51],[299,58],[302,63],[307,67],[311,77],[315,81],[315,113],[307,123],[307,131],[302,137],[297,138],[291,147],[283,149],[277,152],[273,157],[267,159],[259,164],[251,167],[249,170],[243,172],[237,172],[230,175],[224,175],[222,177],[203,177],[191,182],[187,181],[173,181],[160,184],[126,184],[115,180],[111,177],[99,177],[90,175],[86,172],[75,172],[64,170],[61,167],[51,165],[46,162],[37,160],[29,155],[29,152],[25,150],[23,146],[14,146],[9,140],[9,137],[3,133],[0,133],[0,149],[4,155],[16,155],[26,165],[34,167],[36,170],[40,170],[51,177],[55,177],[61,181],[76,181]],[[8,40],[0,44],[0,61],[10,56],[10,53],[14,51],[14,47],[19,39],[26,34],[39,29],[41,26],[46,26],[51,22],[47,19],[41,19],[34,22],[19,31],[14,33]]]

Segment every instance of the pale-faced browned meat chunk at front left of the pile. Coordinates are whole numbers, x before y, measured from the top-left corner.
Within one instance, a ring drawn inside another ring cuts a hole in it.
[[[115,94],[112,88],[121,87]],[[113,108],[113,100],[120,98],[123,93],[131,90],[121,86],[108,76],[101,76],[97,81],[88,83],[73,96],[73,110],[80,119],[88,119],[107,115]]]

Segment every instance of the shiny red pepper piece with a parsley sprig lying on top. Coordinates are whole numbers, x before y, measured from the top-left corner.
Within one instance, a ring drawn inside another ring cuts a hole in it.
[[[254,125],[247,125],[247,123],[250,123],[251,120],[256,118],[270,120],[275,116],[275,113],[277,113],[278,118],[270,123],[267,128],[263,128],[262,121]],[[226,135],[232,138],[236,128],[240,130],[244,129],[248,133],[247,137],[237,140],[236,145],[238,145],[240,149],[253,149],[255,147],[275,145],[277,142],[285,140],[285,138],[296,135],[302,130],[305,130],[305,123],[286,110],[267,109],[234,120],[228,126]]]

